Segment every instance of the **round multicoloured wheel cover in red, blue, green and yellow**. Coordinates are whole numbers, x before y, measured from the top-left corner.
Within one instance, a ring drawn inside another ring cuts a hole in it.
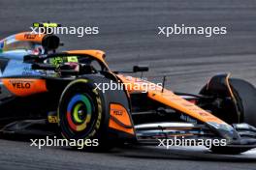
[[[76,95],[68,103],[68,125],[75,131],[87,128],[91,122],[92,102],[86,95]]]

